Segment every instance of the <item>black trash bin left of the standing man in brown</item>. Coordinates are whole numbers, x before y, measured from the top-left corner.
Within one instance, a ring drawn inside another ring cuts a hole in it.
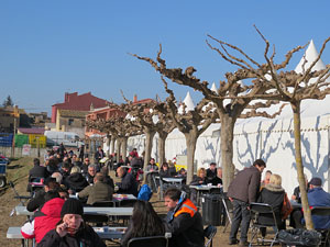
[[[205,194],[201,198],[202,222],[205,225],[221,225],[223,205],[220,194]]]

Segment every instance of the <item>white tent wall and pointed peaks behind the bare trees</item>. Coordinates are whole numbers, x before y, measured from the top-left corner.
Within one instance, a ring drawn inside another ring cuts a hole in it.
[[[318,57],[312,41],[306,49],[305,57],[308,63],[312,63]],[[300,60],[297,65],[297,72],[301,71],[302,63],[304,60]],[[322,69],[324,64],[319,60],[314,68]],[[187,93],[186,99],[190,101],[190,94]],[[185,102],[187,109],[194,105],[189,101]],[[311,179],[311,177],[322,178],[326,191],[330,191],[328,188],[330,187],[328,182],[330,164],[329,105],[330,96],[320,101],[306,100],[301,104],[301,149],[305,172],[308,179]],[[274,113],[277,108],[271,108],[268,112]],[[282,114],[274,120],[264,117],[239,120],[234,130],[233,143],[233,164],[237,169],[249,167],[256,158],[263,158],[267,164],[266,169],[282,176],[283,187],[289,197],[294,188],[298,186],[293,124],[293,112],[289,105],[286,105]],[[195,158],[199,167],[208,167],[211,161],[216,161],[218,166],[221,166],[220,127],[220,124],[212,124],[198,138]],[[129,148],[136,147],[142,153],[143,139],[143,136],[130,138]],[[157,136],[154,138],[152,151],[152,157],[155,158],[157,158],[156,139]],[[176,155],[185,154],[185,137],[178,130],[174,130],[166,141],[166,159],[173,159]]]

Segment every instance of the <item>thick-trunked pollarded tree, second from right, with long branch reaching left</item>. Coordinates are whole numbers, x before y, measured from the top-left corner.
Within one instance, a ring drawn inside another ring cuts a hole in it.
[[[161,57],[162,46],[160,46],[156,60],[148,57],[141,57],[135,54],[133,54],[133,56],[147,61],[156,71],[173,82],[191,87],[195,90],[200,91],[206,100],[213,102],[221,122],[221,164],[223,169],[223,189],[227,191],[234,175],[234,166],[232,164],[233,130],[237,120],[239,117],[245,119],[251,116],[275,117],[275,115],[277,115],[280,111],[273,115],[270,115],[266,112],[261,113],[256,111],[260,106],[267,108],[271,104],[277,103],[274,101],[266,103],[258,102],[257,104],[252,103],[254,99],[253,97],[264,92],[265,90],[261,81],[267,76],[267,71],[270,70],[268,65],[257,64],[239,47],[218,41],[211,36],[209,37],[218,42],[223,52],[215,48],[209,43],[208,45],[212,49],[217,50],[223,59],[239,67],[235,72],[226,74],[226,80],[220,81],[220,88],[217,92],[208,88],[208,81],[201,81],[194,76],[196,69],[191,66],[187,67],[185,71],[183,71],[182,68],[167,68],[166,61]],[[231,55],[227,50],[227,47],[233,49],[243,58],[238,58]],[[292,53],[294,52],[295,50]],[[288,53],[287,56],[290,57],[292,53]],[[289,60],[289,58],[287,58],[287,60]],[[284,68],[286,65],[287,63],[284,61],[282,65],[278,65],[278,67]],[[244,94],[246,98],[235,99],[240,94]],[[228,102],[228,98],[231,99],[231,102]],[[243,112],[244,110],[246,112]]]

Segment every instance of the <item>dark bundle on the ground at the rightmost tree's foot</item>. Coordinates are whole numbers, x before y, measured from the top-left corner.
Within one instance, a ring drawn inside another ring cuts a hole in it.
[[[321,243],[322,235],[309,229],[282,229],[278,233],[278,242],[284,246],[317,247]]]

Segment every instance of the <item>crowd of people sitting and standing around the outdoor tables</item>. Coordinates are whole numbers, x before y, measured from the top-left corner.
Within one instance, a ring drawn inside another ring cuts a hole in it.
[[[34,213],[34,237],[38,246],[103,246],[103,242],[94,229],[82,220],[82,204],[92,205],[100,201],[111,201],[114,191],[118,193],[138,197],[139,179],[134,168],[142,169],[143,160],[136,150],[132,150],[125,161],[121,160],[116,167],[116,173],[121,179],[114,183],[109,176],[107,166],[100,160],[105,157],[101,148],[95,154],[95,164],[88,157],[77,157],[75,154],[58,151],[48,153],[45,166],[34,159],[34,167],[30,170],[29,181],[43,178],[44,187],[35,191],[34,198],[26,209]],[[251,167],[235,173],[228,188],[227,197],[233,205],[232,225],[229,236],[230,245],[248,246],[248,232],[251,222],[250,204],[252,202],[270,204],[276,216],[278,229],[286,227],[286,218],[290,215],[290,226],[304,227],[304,213],[299,207],[293,210],[287,193],[282,187],[282,177],[271,170],[262,173],[266,164],[256,159]],[[153,176],[162,178],[183,178],[186,183],[187,172],[184,168],[176,169],[170,160],[160,167],[151,158],[147,165],[147,182],[153,184]],[[222,168],[211,162],[209,168],[199,168],[190,186],[222,187]],[[330,206],[330,194],[322,190],[322,180],[312,178],[309,182],[306,177],[306,190],[311,206]],[[169,246],[201,247],[204,246],[204,225],[196,200],[197,191],[186,191],[184,187],[164,187],[164,203],[168,210],[166,218],[161,218],[147,201],[136,201],[128,229],[121,240],[123,247],[131,238],[144,236],[163,236],[170,233]],[[28,188],[30,191],[32,188]],[[68,199],[75,194],[77,199]],[[292,201],[301,203],[299,187],[295,188]],[[258,222],[267,224],[273,215],[260,214]],[[317,228],[329,228],[330,217],[312,216]],[[240,229],[240,238],[238,233]],[[266,228],[262,228],[262,236],[266,236]],[[87,237],[88,236],[88,237]]]

